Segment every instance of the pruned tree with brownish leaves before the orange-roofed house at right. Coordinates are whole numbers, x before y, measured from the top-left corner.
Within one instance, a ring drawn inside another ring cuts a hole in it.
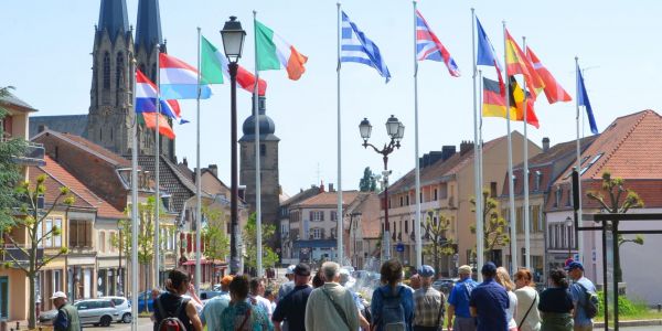
[[[609,171],[602,172],[602,185],[600,192],[589,191],[586,193],[586,196],[598,202],[600,207],[607,211],[610,214],[624,214],[630,209],[643,207],[643,200],[637,194],[637,192],[632,190],[624,189],[626,181],[622,178],[612,178]],[[605,195],[609,196],[609,201],[605,201]],[[624,196],[623,196],[624,194]],[[622,201],[622,202],[621,202]],[[617,232],[619,226],[619,221],[609,221],[609,225],[611,231]],[[613,252],[613,277],[617,282],[623,281],[623,271],[620,266],[620,245],[626,242],[641,243],[639,245],[643,245],[643,238],[640,237],[640,241],[636,239],[624,239],[622,237],[618,238],[618,249]]]

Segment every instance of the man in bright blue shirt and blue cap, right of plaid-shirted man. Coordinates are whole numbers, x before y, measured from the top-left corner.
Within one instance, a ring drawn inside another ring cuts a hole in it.
[[[469,311],[469,299],[478,282],[471,279],[470,266],[461,266],[458,273],[460,274],[460,280],[453,286],[448,296],[448,330],[476,331],[476,318],[471,317]]]

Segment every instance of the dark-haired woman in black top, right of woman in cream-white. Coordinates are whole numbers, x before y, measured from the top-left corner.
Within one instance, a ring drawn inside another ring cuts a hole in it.
[[[573,297],[563,269],[549,271],[549,287],[541,293],[538,310],[543,322],[541,331],[573,330]]]

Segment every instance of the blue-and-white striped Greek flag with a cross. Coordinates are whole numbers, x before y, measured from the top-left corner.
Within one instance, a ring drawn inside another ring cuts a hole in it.
[[[380,75],[391,81],[388,67],[382,58],[380,47],[375,45],[354,22],[350,21],[348,14],[342,12],[342,32],[340,40],[340,62],[356,62],[370,65],[377,70]]]

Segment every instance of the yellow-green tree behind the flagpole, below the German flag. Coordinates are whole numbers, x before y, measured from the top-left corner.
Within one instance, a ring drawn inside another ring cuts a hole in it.
[[[510,243],[508,235],[508,223],[499,213],[499,202],[490,196],[489,191],[483,191],[483,253],[484,256],[492,256],[495,247],[506,246]],[[476,213],[476,197],[469,200],[473,207],[471,211]],[[470,226],[471,233],[476,234],[476,224]],[[473,253],[476,255],[476,252]]]

